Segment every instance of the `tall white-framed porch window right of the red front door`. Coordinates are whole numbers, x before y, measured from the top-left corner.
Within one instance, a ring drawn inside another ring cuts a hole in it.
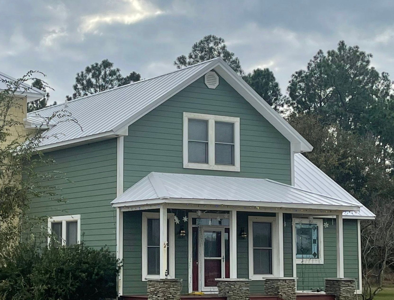
[[[262,280],[278,272],[275,217],[249,217],[249,278]]]

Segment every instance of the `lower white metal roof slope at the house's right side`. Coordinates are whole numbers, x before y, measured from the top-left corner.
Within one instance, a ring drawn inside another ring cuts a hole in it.
[[[294,154],[294,185],[300,189],[362,205],[301,153]],[[375,218],[375,215],[365,206],[362,206],[359,212],[344,212],[344,216],[364,219]]]

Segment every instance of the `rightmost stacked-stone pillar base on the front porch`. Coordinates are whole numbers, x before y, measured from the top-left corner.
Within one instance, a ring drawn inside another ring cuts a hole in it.
[[[356,279],[353,278],[326,278],[325,293],[335,296],[335,300],[356,299]]]

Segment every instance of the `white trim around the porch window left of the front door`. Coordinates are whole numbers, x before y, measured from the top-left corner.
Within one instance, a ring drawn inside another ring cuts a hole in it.
[[[147,281],[148,279],[158,279],[160,275],[148,275],[148,219],[160,219],[160,214],[158,212],[143,212],[142,213],[142,281]],[[169,268],[168,278],[175,277],[175,222],[174,214],[167,214],[167,219],[169,220],[169,261],[167,262]]]

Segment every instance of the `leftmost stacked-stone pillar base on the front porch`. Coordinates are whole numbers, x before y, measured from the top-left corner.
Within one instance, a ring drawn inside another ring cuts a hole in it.
[[[148,279],[148,300],[180,300],[182,279]]]

